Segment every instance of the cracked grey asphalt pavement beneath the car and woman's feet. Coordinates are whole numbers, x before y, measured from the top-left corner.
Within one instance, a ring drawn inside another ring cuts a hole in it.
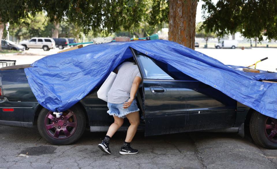
[[[76,143],[55,146],[36,128],[0,125],[0,168],[277,168],[277,150],[230,133],[136,134],[135,155],[120,155],[125,132],[112,138],[111,155],[98,149],[105,133],[85,132]]]

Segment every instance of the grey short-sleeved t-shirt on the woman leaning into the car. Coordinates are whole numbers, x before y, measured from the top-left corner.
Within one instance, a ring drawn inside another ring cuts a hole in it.
[[[118,73],[108,92],[108,102],[120,104],[130,97],[132,84],[136,76],[141,78],[139,68],[132,62],[124,62],[117,67]]]

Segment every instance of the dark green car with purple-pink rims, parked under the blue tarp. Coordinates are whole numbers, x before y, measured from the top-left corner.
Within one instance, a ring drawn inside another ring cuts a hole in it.
[[[192,131],[233,132],[244,136],[244,131],[250,130],[256,144],[277,148],[277,119],[238,103],[174,67],[171,73],[166,72],[146,55],[136,53],[133,59],[143,77],[136,99],[141,116],[139,130],[145,136]],[[113,123],[113,117],[106,113],[107,103],[97,97],[97,88],[57,118],[37,102],[24,72],[26,67],[30,65],[0,68],[1,125],[37,125],[45,140],[65,145],[78,140],[85,129],[104,132]],[[128,125],[126,120],[120,130],[126,130]]]

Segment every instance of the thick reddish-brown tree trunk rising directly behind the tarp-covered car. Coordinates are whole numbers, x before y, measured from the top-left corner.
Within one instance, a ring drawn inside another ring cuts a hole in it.
[[[194,49],[197,0],[169,1],[168,39]]]

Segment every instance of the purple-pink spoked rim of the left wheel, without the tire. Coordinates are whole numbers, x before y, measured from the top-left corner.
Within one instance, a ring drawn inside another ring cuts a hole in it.
[[[64,111],[59,118],[49,111],[44,120],[44,127],[49,136],[55,139],[66,139],[76,131],[77,118],[71,110]]]

